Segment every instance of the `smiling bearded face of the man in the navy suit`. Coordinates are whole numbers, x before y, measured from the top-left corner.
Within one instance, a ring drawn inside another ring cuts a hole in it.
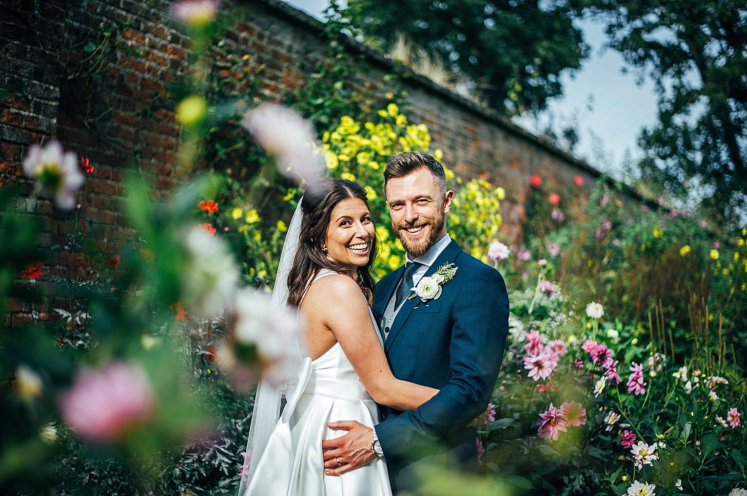
[[[411,257],[417,258],[446,235],[453,192],[444,192],[427,167],[386,184],[391,228]]]

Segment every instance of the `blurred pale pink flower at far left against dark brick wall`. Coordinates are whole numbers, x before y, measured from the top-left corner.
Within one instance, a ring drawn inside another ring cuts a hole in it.
[[[23,160],[23,172],[37,180],[37,189],[52,192],[59,207],[75,207],[75,192],[84,178],[78,169],[78,158],[72,151],[65,152],[60,142],[31,145]]]

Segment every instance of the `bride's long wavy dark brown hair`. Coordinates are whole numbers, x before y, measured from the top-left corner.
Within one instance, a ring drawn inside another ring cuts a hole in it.
[[[329,260],[327,254],[322,251],[322,245],[326,240],[326,231],[329,220],[332,217],[332,209],[343,200],[359,198],[368,206],[368,198],[363,187],[352,180],[324,178],[315,181],[303,195],[301,210],[301,232],[299,236],[298,250],[293,261],[290,273],[288,273],[288,304],[298,307],[301,298],[306,291],[309,282],[316,277],[321,269],[331,269],[349,274],[350,269],[335,260]],[[356,282],[371,304],[373,298],[373,277],[371,266],[376,260],[376,232],[371,239],[371,255],[368,263],[358,268],[358,279]]]

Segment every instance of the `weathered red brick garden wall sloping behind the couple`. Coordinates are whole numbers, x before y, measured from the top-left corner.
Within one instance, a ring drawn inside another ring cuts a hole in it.
[[[184,179],[176,167],[180,129],[164,95],[190,70],[185,31],[169,14],[168,0],[0,0],[0,186],[31,183],[22,177],[28,146],[59,139],[95,172],[78,193],[75,212],[58,210],[39,199],[46,232],[40,248],[51,274],[89,277],[89,261],[52,249],[84,219],[87,234],[114,253],[132,233],[122,214],[123,170],[135,166],[153,178],[162,192]],[[249,54],[263,66],[261,90],[270,97],[306,82],[326,41],[317,21],[278,0],[226,0],[222,8],[238,17],[217,49],[214,67],[222,77],[226,58]],[[358,43],[359,84],[380,91],[391,63]],[[90,75],[96,77],[90,77]],[[527,178],[568,183],[576,174],[598,173],[573,157],[536,139],[495,113],[477,107],[424,78],[400,81],[408,92],[413,121],[430,128],[444,163],[468,178],[482,177],[503,186],[503,234],[521,238]],[[155,109],[155,110],[154,110]],[[106,240],[106,241],[104,241]],[[71,260],[71,258],[74,260]],[[17,324],[19,302],[11,302]],[[6,324],[9,321],[6,319]]]

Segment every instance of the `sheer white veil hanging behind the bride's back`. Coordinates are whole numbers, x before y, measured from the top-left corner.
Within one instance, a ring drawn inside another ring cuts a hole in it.
[[[285,235],[285,244],[280,253],[280,262],[278,272],[275,277],[275,286],[273,287],[273,307],[281,309],[285,307],[288,301],[288,274],[291,272],[301,234],[301,219],[303,219],[303,210],[301,204],[303,198],[298,202],[296,211],[291,219],[291,225],[288,226],[288,233]],[[282,310],[279,310],[281,312]],[[302,360],[300,353],[298,360]],[[257,462],[260,456],[267,448],[267,442],[270,440],[270,434],[280,416],[280,404],[284,388],[276,388],[267,380],[260,380],[257,386],[257,393],[254,399],[254,409],[252,410],[252,422],[249,424],[249,439],[247,441],[247,456],[244,459],[244,468],[241,470],[241,483],[239,484],[238,496],[244,495],[249,486],[254,471],[257,468]]]

